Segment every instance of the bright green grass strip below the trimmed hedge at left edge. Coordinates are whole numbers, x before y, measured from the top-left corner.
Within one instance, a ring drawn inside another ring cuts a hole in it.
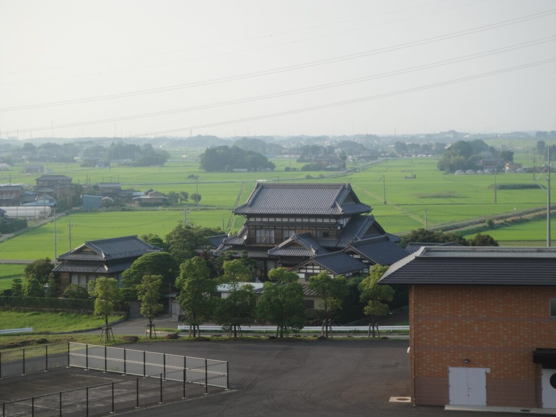
[[[112,316],[110,321],[121,319],[122,316]],[[34,333],[77,331],[94,329],[104,324],[103,319],[87,314],[73,314],[66,312],[20,312],[0,311],[2,329],[22,329],[33,327]]]

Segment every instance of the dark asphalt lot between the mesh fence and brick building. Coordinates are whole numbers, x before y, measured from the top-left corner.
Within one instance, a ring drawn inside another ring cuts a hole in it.
[[[468,414],[444,411],[443,407],[390,402],[391,397],[409,396],[407,341],[261,339],[142,342],[131,346],[139,350],[225,360],[229,362],[230,373],[229,391],[125,412],[134,416]],[[58,381],[63,379],[63,371],[60,372]],[[75,375],[84,371],[70,369],[67,372]],[[0,389],[4,391],[5,384],[24,384],[25,395],[29,396],[34,390],[33,384],[42,385],[44,389],[40,378],[47,374],[6,378],[0,381]],[[110,378],[107,374],[105,377]]]

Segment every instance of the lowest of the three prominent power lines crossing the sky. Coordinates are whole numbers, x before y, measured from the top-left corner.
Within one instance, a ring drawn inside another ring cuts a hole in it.
[[[156,131],[156,132],[147,132],[147,133],[140,134],[140,135],[130,135],[130,136],[125,136],[125,137],[126,138],[132,138],[132,137],[145,137],[145,136],[148,136],[148,135],[150,135],[150,136],[165,135],[166,133],[181,132],[181,131],[184,131],[184,130],[200,129],[200,128],[206,128],[206,127],[222,126],[222,125],[230,125],[232,123],[240,123],[240,122],[247,122],[247,121],[253,121],[253,120],[261,120],[261,119],[266,119],[266,118],[271,118],[271,117],[286,116],[286,115],[292,115],[292,114],[295,114],[295,113],[303,113],[303,112],[308,112],[308,111],[321,110],[323,108],[344,106],[344,105],[359,103],[359,102],[363,102],[363,101],[377,100],[379,98],[384,98],[384,97],[391,97],[391,96],[397,96],[397,95],[416,92],[416,91],[421,91],[421,90],[428,90],[429,88],[436,88],[436,87],[447,86],[447,85],[460,83],[460,82],[465,82],[465,81],[470,81],[470,80],[477,80],[478,78],[484,78],[484,77],[489,77],[489,76],[493,76],[493,75],[503,74],[503,73],[506,73],[506,72],[517,71],[518,69],[523,69],[523,68],[535,67],[535,66],[539,66],[539,65],[542,65],[542,64],[547,64],[547,63],[554,62],[554,61],[556,61],[556,57],[543,59],[542,61],[530,62],[530,63],[527,63],[527,64],[518,65],[518,66],[515,66],[515,67],[499,69],[497,71],[490,71],[490,72],[485,72],[485,73],[481,73],[481,74],[477,74],[477,75],[473,75],[473,76],[456,78],[455,80],[443,81],[443,82],[428,84],[428,85],[425,85],[425,86],[406,88],[405,90],[399,90],[399,91],[393,91],[393,92],[389,92],[389,93],[378,94],[378,95],[375,95],[375,96],[354,98],[353,100],[345,100],[345,101],[339,101],[339,102],[334,102],[334,103],[327,103],[327,104],[320,105],[320,106],[298,108],[296,110],[287,110],[287,111],[278,112],[278,113],[271,113],[271,114],[268,114],[268,115],[245,117],[245,118],[240,118],[240,119],[235,119],[235,120],[228,120],[228,121],[224,121],[224,122],[206,123],[205,125],[187,126],[187,127],[180,127],[180,128],[176,128],[176,129],[169,129],[169,130]]]

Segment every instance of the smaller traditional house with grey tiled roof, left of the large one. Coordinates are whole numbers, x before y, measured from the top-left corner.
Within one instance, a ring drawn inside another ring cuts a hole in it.
[[[101,277],[122,281],[122,272],[138,257],[160,252],[162,249],[148,244],[137,236],[114,237],[92,240],[58,257],[53,271],[60,275],[60,289],[69,284],[86,286],[87,282]]]

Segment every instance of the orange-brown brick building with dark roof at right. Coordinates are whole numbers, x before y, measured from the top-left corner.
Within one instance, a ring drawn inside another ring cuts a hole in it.
[[[380,283],[409,285],[415,405],[556,409],[556,250],[423,247]]]

